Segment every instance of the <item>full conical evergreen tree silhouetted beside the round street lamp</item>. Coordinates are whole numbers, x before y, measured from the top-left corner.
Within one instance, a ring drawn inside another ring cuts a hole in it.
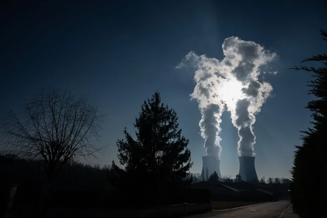
[[[147,99],[135,119],[136,139],[124,130],[125,138],[117,141],[118,159],[130,174],[142,175],[153,181],[180,186],[193,162],[187,148],[189,141],[181,135],[176,112],[161,101],[159,92]],[[157,150],[163,157],[155,158]]]

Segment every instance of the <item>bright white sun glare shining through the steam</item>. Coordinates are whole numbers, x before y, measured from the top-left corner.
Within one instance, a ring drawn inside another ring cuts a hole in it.
[[[235,104],[237,100],[241,99],[244,94],[242,92],[243,85],[236,79],[226,81],[222,88],[221,94],[227,105]]]

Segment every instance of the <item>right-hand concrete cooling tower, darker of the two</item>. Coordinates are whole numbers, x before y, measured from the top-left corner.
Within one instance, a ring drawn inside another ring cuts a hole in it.
[[[243,181],[247,182],[259,182],[256,168],[254,166],[255,157],[252,156],[240,156],[240,171],[238,174],[241,175]]]

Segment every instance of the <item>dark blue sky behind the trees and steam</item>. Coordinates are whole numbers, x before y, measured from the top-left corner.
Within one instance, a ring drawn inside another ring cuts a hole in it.
[[[7,1],[0,9],[0,117],[50,84],[88,94],[107,114],[99,145],[108,148],[91,164],[118,163],[117,139],[125,127],[135,132],[141,104],[160,91],[190,141],[191,172],[200,173],[206,150],[198,103],[190,100],[194,70],[175,67],[191,51],[222,60],[224,40],[239,37],[276,53],[269,67],[277,73],[261,75],[273,90],[253,125],[254,152],[259,178],[288,178],[299,131],[312,120],[305,106],[314,99],[307,95],[310,73],[288,68],[326,52],[319,35],[326,8],[323,0]],[[234,177],[237,129],[228,111],[221,120],[220,171]]]

